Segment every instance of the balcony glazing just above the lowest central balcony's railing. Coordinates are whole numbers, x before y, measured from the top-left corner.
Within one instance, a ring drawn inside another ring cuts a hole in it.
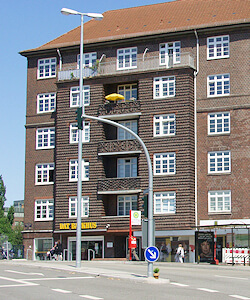
[[[117,160],[117,177],[136,177],[137,158],[119,158]]]

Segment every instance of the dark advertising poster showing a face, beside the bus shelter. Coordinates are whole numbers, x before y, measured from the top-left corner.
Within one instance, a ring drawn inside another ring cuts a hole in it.
[[[214,260],[214,233],[211,231],[196,231],[196,261],[211,263]]]

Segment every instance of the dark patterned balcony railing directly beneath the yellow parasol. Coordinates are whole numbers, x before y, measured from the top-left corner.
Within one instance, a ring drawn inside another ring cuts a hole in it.
[[[98,115],[120,115],[120,114],[133,114],[141,111],[141,104],[139,100],[114,102],[99,105]]]

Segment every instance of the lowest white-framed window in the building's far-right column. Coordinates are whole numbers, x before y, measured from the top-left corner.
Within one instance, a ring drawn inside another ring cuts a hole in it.
[[[231,212],[231,191],[209,191],[208,212]]]

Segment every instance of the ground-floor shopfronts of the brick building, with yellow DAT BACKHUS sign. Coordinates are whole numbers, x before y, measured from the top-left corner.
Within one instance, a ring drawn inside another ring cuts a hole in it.
[[[245,220],[246,221],[246,220]],[[239,223],[239,222],[238,222]],[[179,244],[184,248],[184,262],[243,263],[249,261],[250,220],[249,224],[202,224],[194,230],[155,231],[155,246],[159,249],[159,261],[176,261]],[[88,225],[88,226],[87,226]],[[93,258],[128,259],[128,231],[98,229],[95,224],[85,224],[81,235],[81,259]],[[133,231],[136,237],[136,255],[133,259],[144,260],[142,231]],[[76,259],[76,230],[64,226],[62,230],[43,233],[24,234],[25,256],[33,260],[48,259],[47,253],[56,241],[63,246],[63,259]],[[215,256],[216,253],[216,256]]]

